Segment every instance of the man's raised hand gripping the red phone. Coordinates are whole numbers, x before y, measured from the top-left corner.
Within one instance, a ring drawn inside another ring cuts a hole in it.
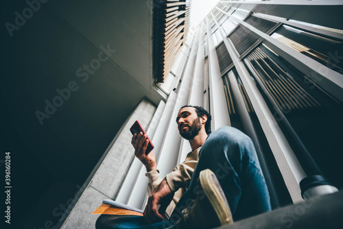
[[[147,140],[147,136],[145,134],[143,135],[142,132],[140,132],[138,135],[134,134],[134,136],[132,136],[131,144],[134,147],[134,155],[141,160],[147,171],[152,171],[157,169],[156,159],[154,152],[150,152],[149,154],[145,155],[148,143],[149,140]]]

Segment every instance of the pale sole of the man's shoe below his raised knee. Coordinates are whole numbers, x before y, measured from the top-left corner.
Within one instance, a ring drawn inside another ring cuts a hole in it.
[[[201,171],[199,179],[202,189],[213,206],[215,213],[217,213],[220,224],[232,224],[233,219],[228,201],[213,171],[210,169]]]

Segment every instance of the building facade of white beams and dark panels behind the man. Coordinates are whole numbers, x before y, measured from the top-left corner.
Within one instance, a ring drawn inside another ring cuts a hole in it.
[[[209,110],[212,131],[231,125],[252,138],[273,208],[303,201],[307,178],[342,188],[342,10],[342,1],[220,1],[156,84],[167,101],[145,127],[161,176],[191,150],[175,123],[191,104]],[[130,159],[110,198],[144,208],[145,167]]]

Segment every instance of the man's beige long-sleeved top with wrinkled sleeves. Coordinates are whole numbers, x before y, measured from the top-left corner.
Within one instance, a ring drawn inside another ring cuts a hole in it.
[[[200,149],[201,147],[192,152],[189,152],[187,154],[185,162],[182,162],[180,165],[176,165],[173,171],[171,171],[171,173],[168,173],[166,176],[166,180],[171,191],[175,192],[173,201],[170,202],[167,210],[165,211],[165,215],[168,219],[171,213],[173,213],[176,204],[180,200],[180,197],[187,190],[189,182],[191,182],[191,176],[199,160],[198,154]],[[147,193],[150,195],[163,179],[160,177],[160,171],[158,171],[158,169],[154,169],[150,172],[145,173],[145,176],[147,176],[147,179],[149,180],[147,184]]]

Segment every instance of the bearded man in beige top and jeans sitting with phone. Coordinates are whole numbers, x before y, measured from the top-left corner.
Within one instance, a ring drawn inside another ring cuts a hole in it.
[[[101,216],[97,228],[215,228],[271,210],[255,147],[246,134],[231,127],[211,133],[211,115],[198,106],[180,108],[176,123],[192,151],[164,179],[154,153],[145,155],[147,136],[132,137],[149,180],[144,217]]]

